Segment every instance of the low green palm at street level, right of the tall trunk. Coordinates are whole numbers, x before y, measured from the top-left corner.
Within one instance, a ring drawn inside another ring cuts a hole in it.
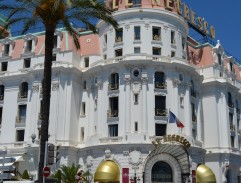
[[[80,166],[72,164],[72,166],[61,165],[58,171],[53,174],[53,178],[57,179],[57,183],[74,183],[75,175],[78,172]]]

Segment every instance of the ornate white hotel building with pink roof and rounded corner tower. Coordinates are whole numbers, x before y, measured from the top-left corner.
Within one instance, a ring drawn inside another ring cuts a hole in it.
[[[108,1],[119,29],[80,30],[80,50],[56,31],[49,142],[61,159],[51,170],[80,164],[92,182],[241,182],[240,65],[220,42],[189,37],[176,8],[128,2]],[[44,32],[0,40],[0,154],[34,179],[43,61]],[[184,128],[168,123],[169,109]]]

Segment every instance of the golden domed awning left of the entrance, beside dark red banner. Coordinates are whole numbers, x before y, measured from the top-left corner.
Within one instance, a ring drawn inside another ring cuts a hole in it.
[[[98,166],[95,177],[95,182],[119,182],[120,169],[114,161],[103,161]]]

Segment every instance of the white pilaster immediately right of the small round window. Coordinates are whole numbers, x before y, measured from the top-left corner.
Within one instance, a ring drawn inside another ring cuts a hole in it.
[[[148,122],[147,122],[147,73],[142,73],[142,131],[144,133],[148,132]]]

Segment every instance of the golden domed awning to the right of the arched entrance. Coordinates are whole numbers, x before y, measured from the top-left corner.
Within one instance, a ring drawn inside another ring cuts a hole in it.
[[[211,168],[206,165],[197,167],[197,183],[216,183],[216,177]]]

